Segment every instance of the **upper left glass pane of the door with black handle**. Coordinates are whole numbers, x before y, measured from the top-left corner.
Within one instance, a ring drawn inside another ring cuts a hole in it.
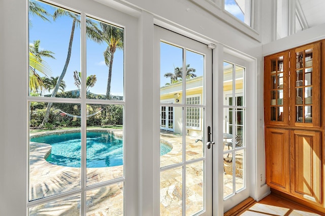
[[[183,49],[166,42],[160,42],[161,103],[183,103],[182,78]]]

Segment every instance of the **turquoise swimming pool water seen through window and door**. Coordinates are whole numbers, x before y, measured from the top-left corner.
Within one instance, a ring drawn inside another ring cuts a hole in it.
[[[47,143],[52,146],[51,154],[46,161],[70,167],[80,167],[81,134],[55,134],[31,138],[30,141]],[[123,141],[112,134],[87,132],[87,167],[107,167],[123,164]],[[171,147],[160,144],[160,155],[167,154]]]

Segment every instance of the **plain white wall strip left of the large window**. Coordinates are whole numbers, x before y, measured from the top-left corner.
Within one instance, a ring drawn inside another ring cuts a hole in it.
[[[27,159],[26,1],[1,1],[0,214],[25,215]],[[15,16],[13,16],[15,12]],[[17,13],[17,14],[16,14]],[[16,19],[16,16],[18,19]],[[15,162],[12,162],[15,161]]]

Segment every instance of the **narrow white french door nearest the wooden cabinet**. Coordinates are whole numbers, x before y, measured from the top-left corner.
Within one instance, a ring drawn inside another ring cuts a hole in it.
[[[251,83],[253,79],[247,78],[252,75],[248,73],[249,63],[223,53],[222,65],[222,73],[218,76],[222,80],[222,84],[218,82],[221,85],[219,91],[222,87],[222,91],[218,93],[219,98],[222,97],[222,100],[219,100],[222,104],[218,105],[221,112],[213,111],[214,115],[218,116],[220,131],[222,129],[222,134],[218,133],[218,143],[221,145],[218,151],[214,152],[214,155],[218,156],[214,158],[217,158],[218,164],[222,166],[222,168],[218,166],[218,170],[223,170],[222,179],[218,179],[220,181],[218,184],[214,181],[214,185],[222,187],[222,193],[219,191],[218,194],[214,193],[214,196],[222,200],[218,203],[223,204],[224,212],[250,195],[249,183],[253,167],[248,164],[252,164],[253,158],[250,149],[254,140],[252,137],[254,125],[253,121],[248,119],[254,119],[252,112],[254,102],[253,97],[247,97],[252,95],[251,87],[253,87]],[[247,128],[250,128],[250,131]],[[218,214],[221,213],[219,210]]]

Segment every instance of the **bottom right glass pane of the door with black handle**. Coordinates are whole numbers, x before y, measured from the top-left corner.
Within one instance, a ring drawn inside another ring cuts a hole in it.
[[[193,215],[204,209],[204,162],[186,166],[186,215]]]

